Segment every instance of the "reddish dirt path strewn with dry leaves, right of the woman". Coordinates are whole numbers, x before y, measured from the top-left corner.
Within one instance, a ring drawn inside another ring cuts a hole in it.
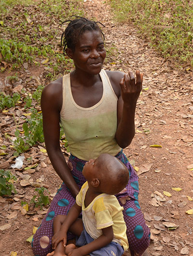
[[[185,213],[193,208],[187,198],[193,198],[193,172],[186,168],[193,163],[193,73],[175,69],[131,25],[113,22],[110,8],[101,1],[86,1],[85,5],[89,16],[106,26],[106,43],[118,49],[117,59],[106,68],[139,69],[144,74],[137,133],[124,152],[139,171],[149,170],[139,176],[139,200],[152,229],[151,255],[193,256],[193,215]],[[153,144],[162,147],[150,147]],[[172,196],[165,196],[164,191]],[[157,197],[157,192],[164,198]],[[168,230],[174,224],[178,228]]]

